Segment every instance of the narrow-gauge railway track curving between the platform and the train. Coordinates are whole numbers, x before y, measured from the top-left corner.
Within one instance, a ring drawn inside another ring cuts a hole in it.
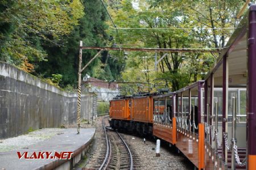
[[[106,130],[105,118],[102,118],[102,125],[106,139],[106,154],[99,169],[133,169],[133,155],[129,146],[117,131]]]

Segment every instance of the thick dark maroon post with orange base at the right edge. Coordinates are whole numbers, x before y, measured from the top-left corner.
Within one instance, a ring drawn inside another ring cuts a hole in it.
[[[247,168],[256,169],[256,5],[250,6],[247,86]]]

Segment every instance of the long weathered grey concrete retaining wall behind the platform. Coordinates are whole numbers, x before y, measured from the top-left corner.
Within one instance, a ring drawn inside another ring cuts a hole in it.
[[[93,94],[83,94],[81,120],[93,117]],[[0,62],[0,138],[29,129],[75,124],[77,94],[60,90],[39,78]]]

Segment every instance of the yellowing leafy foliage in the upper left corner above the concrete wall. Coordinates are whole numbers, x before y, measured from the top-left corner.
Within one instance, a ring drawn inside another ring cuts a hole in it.
[[[32,72],[34,62],[46,61],[42,42],[62,44],[84,15],[79,0],[0,2],[0,60]]]

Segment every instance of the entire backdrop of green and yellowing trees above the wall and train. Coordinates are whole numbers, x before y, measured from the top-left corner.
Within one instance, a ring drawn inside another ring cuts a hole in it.
[[[129,48],[223,48],[243,1],[108,1],[117,27],[197,29],[113,29],[100,0],[0,1],[0,60],[72,91],[77,84],[79,41],[84,46]],[[82,65],[97,53],[84,50]],[[158,53],[158,59],[164,53]],[[142,58],[147,56],[147,58]],[[216,56],[168,53],[154,71],[154,54],[122,50],[102,52],[82,76],[152,83],[170,80],[172,91],[203,79]],[[62,75],[60,78],[59,75]]]

